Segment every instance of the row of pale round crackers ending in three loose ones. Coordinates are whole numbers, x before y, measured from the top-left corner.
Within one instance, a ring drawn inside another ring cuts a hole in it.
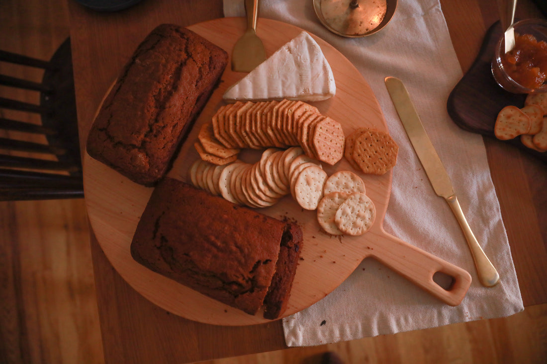
[[[299,147],[266,149],[257,163],[237,160],[218,166],[200,159],[190,168],[190,180],[213,195],[254,208],[272,206],[290,193],[300,207],[317,209],[319,225],[333,235],[363,234],[376,216],[357,174],[339,171],[328,176]]]

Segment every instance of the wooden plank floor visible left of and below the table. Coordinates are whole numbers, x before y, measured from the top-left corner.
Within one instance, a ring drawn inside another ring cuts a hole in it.
[[[0,49],[49,58],[69,34],[66,1],[0,1]],[[0,71],[28,75],[5,64]],[[7,87],[0,96],[36,98]],[[0,202],[0,363],[103,362],[88,229],[81,199]],[[311,364],[326,351],[346,363],[545,363],[547,305],[509,318],[207,363]]]

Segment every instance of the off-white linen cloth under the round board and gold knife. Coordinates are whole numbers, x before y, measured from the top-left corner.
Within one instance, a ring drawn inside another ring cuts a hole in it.
[[[321,25],[312,0],[263,0],[259,16],[293,24],[326,40],[362,73],[375,92],[389,133],[399,144],[385,230],[467,270],[473,283],[450,307],[373,259],[365,259],[337,289],[283,319],[289,347],[321,345],[455,322],[509,316],[523,310],[511,251],[482,138],[458,128],[446,111],[462,77],[438,0],[399,1],[392,21],[364,38],[336,36]],[[224,15],[244,16],[242,0],[224,0]],[[260,19],[258,20],[260,26]],[[479,283],[472,256],[450,207],[435,195],[386,90],[384,78],[405,83],[449,173],[476,238],[501,277]]]

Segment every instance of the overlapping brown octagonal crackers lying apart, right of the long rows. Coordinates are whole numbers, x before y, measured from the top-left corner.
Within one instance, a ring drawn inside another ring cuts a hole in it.
[[[344,156],[357,171],[384,174],[395,166],[398,151],[388,133],[362,127],[346,138]]]

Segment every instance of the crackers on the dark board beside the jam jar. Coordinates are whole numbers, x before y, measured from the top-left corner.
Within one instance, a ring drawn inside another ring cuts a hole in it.
[[[538,152],[547,151],[547,95],[531,93],[525,105],[514,105],[499,111],[494,124],[494,135],[500,140],[520,136],[522,144]]]

